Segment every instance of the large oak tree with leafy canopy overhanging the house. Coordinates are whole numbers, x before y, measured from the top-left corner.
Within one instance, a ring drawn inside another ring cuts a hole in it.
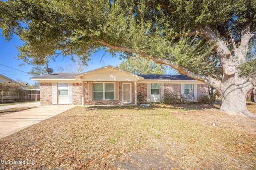
[[[222,94],[222,111],[246,108],[252,82],[240,74],[255,36],[256,0],[7,0],[0,27],[24,45],[20,59],[107,50],[167,64]]]

